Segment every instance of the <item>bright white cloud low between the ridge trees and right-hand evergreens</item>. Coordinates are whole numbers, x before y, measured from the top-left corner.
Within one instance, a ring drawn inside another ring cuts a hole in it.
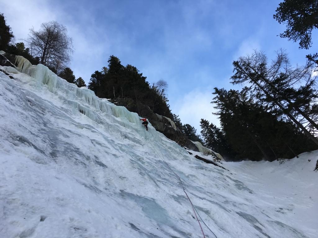
[[[208,89],[194,89],[179,99],[177,103],[174,103],[172,111],[179,115],[183,124],[190,124],[197,129],[197,133],[200,133],[200,120],[201,118],[212,122],[216,126],[220,126],[220,122],[217,116],[212,115],[215,112],[212,101],[213,90]]]

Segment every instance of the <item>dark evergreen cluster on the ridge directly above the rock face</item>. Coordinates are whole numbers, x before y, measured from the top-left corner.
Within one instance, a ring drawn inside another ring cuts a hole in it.
[[[146,78],[135,66],[123,66],[119,58],[112,55],[109,57],[108,67],[92,74],[88,88],[101,98],[130,98],[136,105],[141,102],[149,106],[154,113],[172,120],[173,115],[165,95],[167,84],[161,80],[150,86]]]

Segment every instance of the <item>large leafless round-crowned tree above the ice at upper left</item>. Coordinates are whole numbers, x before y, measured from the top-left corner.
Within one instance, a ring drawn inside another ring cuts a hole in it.
[[[30,29],[25,40],[33,57],[39,57],[40,63],[56,72],[64,69],[73,54],[73,40],[67,36],[66,27],[56,21],[42,23],[39,31]]]

